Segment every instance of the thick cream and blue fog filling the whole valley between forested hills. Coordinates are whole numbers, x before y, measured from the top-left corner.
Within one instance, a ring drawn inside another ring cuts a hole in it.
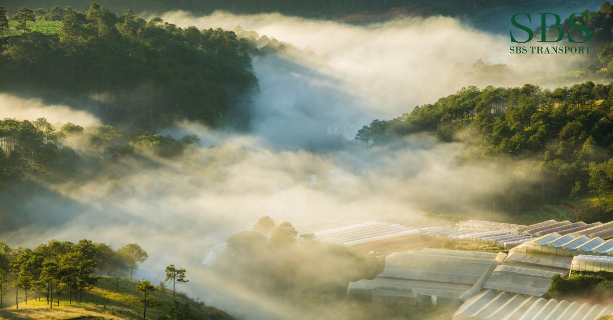
[[[28,208],[31,220],[53,220],[54,225],[27,226],[4,238],[29,247],[49,239],[88,238],[115,247],[137,242],[151,256],[137,277],[158,283],[167,264],[186,267],[191,281],[180,290],[249,319],[300,316],[240,283],[190,275],[201,271],[207,248],[251,229],[263,215],[278,223],[326,217],[407,225],[424,223],[422,212],[491,218],[484,198],[503,193],[517,180],[539,179],[529,171],[532,163],[526,163],[527,172],[514,173],[501,173],[495,161],[460,163],[461,144],[438,143],[425,134],[367,149],[352,141],[362,125],[400,116],[461,87],[521,85],[579,62],[574,56],[509,55],[506,37],[451,18],[368,26],[280,15],[170,12],[162,18],[199,28],[240,25],[288,44],[284,52],[254,58],[260,91],[251,130],[178,123],[163,133],[196,134],[202,147],[179,160],[143,153],[155,165],[125,158],[88,183],[48,187],[62,201],[32,195]],[[476,59],[503,62],[508,73],[479,73],[472,67]],[[83,111],[9,95],[0,95],[0,113],[99,124]],[[211,286],[218,291],[210,291]]]

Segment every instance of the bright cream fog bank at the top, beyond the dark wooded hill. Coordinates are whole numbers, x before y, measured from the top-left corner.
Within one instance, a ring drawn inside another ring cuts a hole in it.
[[[337,94],[350,95],[353,99],[349,105],[345,103],[343,110],[352,109],[357,100],[359,106],[365,105],[381,117],[398,116],[469,85],[521,86],[527,80],[539,80],[546,86],[555,86],[539,77],[578,67],[584,58],[571,54],[510,54],[508,34],[471,29],[445,17],[404,18],[366,26],[275,14],[235,16],[218,12],[194,17],[179,11],[161,17],[181,27],[240,26],[289,43],[297,51],[288,50],[283,58],[319,75],[307,74],[303,81],[333,85]],[[506,64],[508,73],[478,73],[472,69],[477,59]],[[265,76],[265,62],[256,61],[254,66],[259,78]],[[304,72],[294,71],[304,76]]]

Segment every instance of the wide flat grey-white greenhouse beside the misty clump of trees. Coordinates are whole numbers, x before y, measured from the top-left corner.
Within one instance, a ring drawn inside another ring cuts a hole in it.
[[[505,256],[442,249],[393,253],[373,280],[349,283],[347,295],[394,303],[457,304],[478,292]]]

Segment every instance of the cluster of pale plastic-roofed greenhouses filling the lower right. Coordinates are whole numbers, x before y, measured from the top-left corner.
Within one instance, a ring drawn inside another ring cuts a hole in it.
[[[550,220],[520,226],[512,233],[503,228],[470,230],[468,223],[459,225],[463,228],[431,227],[420,231],[459,240],[492,242],[512,239],[509,234],[523,236],[524,240],[508,255],[428,248],[393,253],[387,256],[383,272],[373,280],[349,283],[348,297],[387,303],[461,304],[454,319],[597,319],[613,313],[610,305],[542,297],[555,275],[566,277],[571,270],[613,271],[613,239],[594,236],[604,234],[607,224],[577,226],[569,221]],[[492,226],[495,228],[495,223]],[[576,231],[582,227],[587,228]],[[551,230],[564,234],[547,233]],[[546,234],[534,237],[541,233]]]

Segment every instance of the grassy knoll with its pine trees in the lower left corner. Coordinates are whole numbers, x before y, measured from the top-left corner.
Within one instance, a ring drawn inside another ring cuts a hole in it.
[[[30,249],[0,241],[0,317],[142,319],[148,310],[150,319],[232,319],[165,285],[123,278],[145,259],[137,244],[114,250],[86,239],[50,240]],[[166,272],[171,284],[186,282],[184,269],[170,265]]]

